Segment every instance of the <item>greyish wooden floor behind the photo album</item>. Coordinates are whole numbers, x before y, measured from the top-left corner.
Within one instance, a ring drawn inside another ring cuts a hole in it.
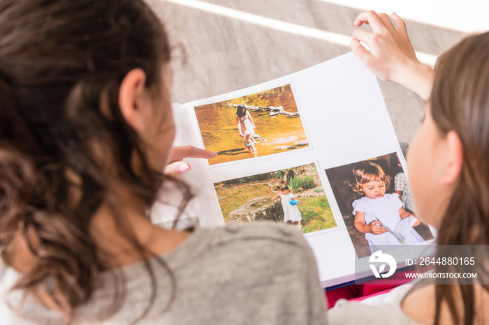
[[[315,0],[205,0],[261,17],[351,36],[361,12]],[[282,77],[349,52],[349,47],[242,22],[181,3],[148,0],[166,24],[175,47],[173,101],[219,95]],[[438,56],[465,33],[406,22],[416,51]],[[368,28],[368,27],[367,27]],[[423,101],[391,82],[380,86],[397,137],[410,142],[423,116]]]

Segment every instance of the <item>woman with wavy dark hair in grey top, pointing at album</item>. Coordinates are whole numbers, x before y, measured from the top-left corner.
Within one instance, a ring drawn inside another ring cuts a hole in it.
[[[0,2],[2,324],[324,322],[296,229],[147,218],[163,182],[191,197],[178,160],[214,157],[172,148],[169,61],[143,1]]]

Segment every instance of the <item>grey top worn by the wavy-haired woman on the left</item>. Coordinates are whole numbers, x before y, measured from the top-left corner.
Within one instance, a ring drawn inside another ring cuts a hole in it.
[[[175,275],[175,297],[168,310],[171,281],[152,259],[156,285],[143,262],[103,273],[89,302],[78,309],[77,324],[130,324],[143,314],[154,287],[154,303],[137,324],[326,324],[326,304],[314,255],[302,234],[287,225],[254,223],[197,228],[187,241],[161,256]],[[2,266],[3,292],[15,272]],[[122,272],[126,297],[119,310],[99,322],[110,308],[110,283]],[[17,305],[20,293],[8,296]],[[33,301],[16,324],[61,324],[57,312]],[[0,303],[0,323],[12,324],[13,312]],[[30,320],[29,320],[30,319]]]

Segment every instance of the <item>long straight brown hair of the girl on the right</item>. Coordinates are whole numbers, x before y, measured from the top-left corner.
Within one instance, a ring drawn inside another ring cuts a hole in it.
[[[463,165],[444,213],[438,245],[488,245],[489,235],[489,33],[465,38],[437,61],[431,93],[432,117],[443,134],[454,130],[462,142]],[[439,246],[439,257],[446,254]],[[480,246],[479,246],[480,247]],[[459,252],[460,257],[462,252]],[[487,279],[487,256],[476,257],[478,283]],[[435,266],[437,272],[462,272],[465,266]],[[451,310],[455,324],[473,324],[476,300],[474,279],[455,286],[435,282],[436,316],[441,304]],[[488,287],[483,286],[487,291]],[[457,307],[463,304],[463,309]],[[462,311],[462,315],[460,315]],[[462,316],[462,319],[460,319]],[[460,322],[462,320],[462,322]]]

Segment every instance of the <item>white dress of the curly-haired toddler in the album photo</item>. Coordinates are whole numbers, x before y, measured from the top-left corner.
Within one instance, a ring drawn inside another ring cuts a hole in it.
[[[399,195],[385,194],[378,199],[369,199],[368,197],[362,197],[353,201],[353,215],[356,211],[365,213],[365,225],[369,225],[370,222],[376,220],[376,218],[389,229],[394,230],[397,222],[401,220],[399,209],[402,208],[402,201],[399,199]],[[370,232],[365,234],[370,250],[372,252],[377,251],[377,245],[402,245],[400,241],[390,232],[384,232],[384,234],[374,235]],[[404,239],[404,244],[412,245],[415,243],[421,243],[424,241],[416,230],[411,229],[411,232]]]

